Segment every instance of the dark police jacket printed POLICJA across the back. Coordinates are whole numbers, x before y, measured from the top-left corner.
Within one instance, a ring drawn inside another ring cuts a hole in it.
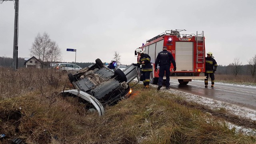
[[[173,64],[174,68],[176,68],[176,62],[175,62],[172,54],[170,52],[168,52],[167,50],[163,50],[162,52],[158,53],[158,55],[156,57],[155,65],[156,65],[156,67],[158,64],[159,64],[159,66],[171,65],[171,62]]]

